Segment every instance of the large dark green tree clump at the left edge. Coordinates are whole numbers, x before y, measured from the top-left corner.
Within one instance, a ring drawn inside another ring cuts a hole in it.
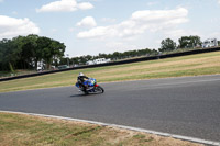
[[[66,46],[58,41],[38,36],[18,36],[0,41],[0,70],[36,69],[38,63],[46,68],[57,65]]]

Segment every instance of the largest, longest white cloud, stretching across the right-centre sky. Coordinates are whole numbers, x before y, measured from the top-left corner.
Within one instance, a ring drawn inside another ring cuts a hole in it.
[[[147,31],[157,32],[176,27],[186,23],[188,10],[176,8],[174,10],[145,10],[132,13],[131,18],[116,25],[97,26],[89,31],[79,32],[78,38],[94,37],[133,37]]]

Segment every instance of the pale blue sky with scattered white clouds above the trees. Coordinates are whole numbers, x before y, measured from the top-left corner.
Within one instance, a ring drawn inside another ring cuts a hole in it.
[[[29,34],[64,43],[70,57],[220,40],[220,0],[0,0],[0,40]]]

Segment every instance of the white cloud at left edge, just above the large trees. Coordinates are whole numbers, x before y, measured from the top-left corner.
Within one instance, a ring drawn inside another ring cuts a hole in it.
[[[0,38],[9,38],[18,35],[38,34],[40,29],[25,19],[14,19],[6,15],[0,15]]]

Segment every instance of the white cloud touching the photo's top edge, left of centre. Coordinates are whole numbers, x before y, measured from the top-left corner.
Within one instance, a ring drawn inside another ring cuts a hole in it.
[[[42,5],[40,9],[36,9],[36,12],[73,12],[78,9],[88,10],[92,8],[94,5],[89,2],[77,3],[76,0],[61,0]]]

